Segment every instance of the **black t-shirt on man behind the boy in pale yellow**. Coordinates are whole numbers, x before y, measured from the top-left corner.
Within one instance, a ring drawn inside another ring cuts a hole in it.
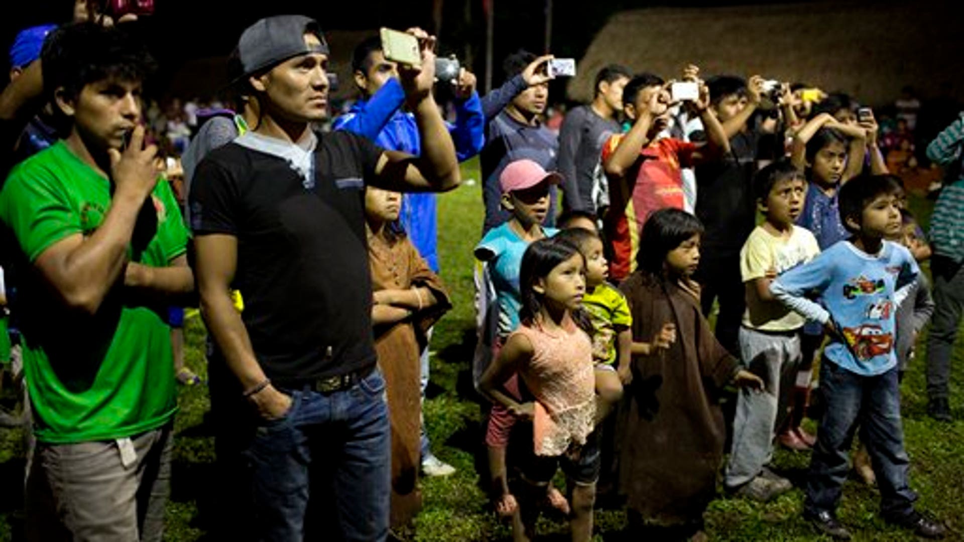
[[[753,174],[760,132],[750,128],[730,139],[730,153],[696,167],[696,216],[706,232],[705,257],[732,257],[756,226]]]

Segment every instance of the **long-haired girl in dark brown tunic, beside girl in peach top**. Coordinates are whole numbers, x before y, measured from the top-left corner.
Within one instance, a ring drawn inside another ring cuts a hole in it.
[[[702,530],[723,457],[717,393],[730,382],[763,387],[739,368],[700,312],[690,276],[702,232],[685,211],[656,211],[643,227],[638,269],[621,285],[633,340],[656,347],[632,360],[629,408],[620,423],[620,486],[632,528],[658,530],[661,540],[684,540]]]

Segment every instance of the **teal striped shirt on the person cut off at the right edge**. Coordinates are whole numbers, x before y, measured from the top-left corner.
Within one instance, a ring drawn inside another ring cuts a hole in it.
[[[927,146],[931,161],[947,166],[957,163],[957,178],[941,190],[930,218],[934,254],[964,261],[964,113]]]

